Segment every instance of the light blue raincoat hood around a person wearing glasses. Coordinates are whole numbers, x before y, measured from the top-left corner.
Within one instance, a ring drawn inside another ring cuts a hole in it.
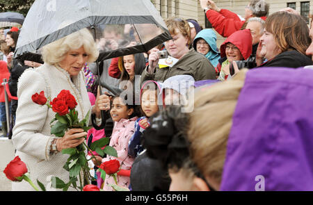
[[[210,60],[211,64],[216,67],[218,65],[218,59],[220,59],[220,51],[218,51],[218,47],[216,45],[216,33],[211,28],[203,29],[197,35],[195,35],[195,39],[193,40],[193,48],[197,51],[196,43],[198,40],[203,39],[209,44],[210,51],[204,56]]]

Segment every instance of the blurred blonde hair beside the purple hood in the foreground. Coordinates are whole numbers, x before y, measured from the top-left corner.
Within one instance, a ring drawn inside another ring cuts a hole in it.
[[[222,178],[232,115],[247,71],[241,69],[233,79],[195,92],[187,131],[191,158],[205,177],[217,183]]]

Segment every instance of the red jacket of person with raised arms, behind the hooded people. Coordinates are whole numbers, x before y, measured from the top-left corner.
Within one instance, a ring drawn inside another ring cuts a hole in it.
[[[221,9],[219,13],[216,10],[209,9],[206,15],[215,31],[223,37],[229,37],[235,31],[239,31],[245,23],[245,21],[241,21],[236,13],[227,9]],[[266,17],[261,18],[266,19]]]

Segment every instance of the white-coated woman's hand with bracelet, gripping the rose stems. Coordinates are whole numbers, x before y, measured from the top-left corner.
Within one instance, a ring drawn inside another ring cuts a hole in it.
[[[63,149],[77,147],[83,143],[85,136],[87,136],[87,133],[83,129],[70,129],[65,132],[63,138],[56,140],[56,148],[58,151],[62,151]]]

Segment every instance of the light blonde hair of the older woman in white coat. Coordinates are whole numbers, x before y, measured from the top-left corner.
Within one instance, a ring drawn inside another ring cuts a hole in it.
[[[97,45],[87,28],[83,28],[75,33],[65,36],[55,42],[47,44],[42,49],[42,60],[50,65],[57,64],[65,58],[68,51],[79,49],[83,46],[88,54],[88,63],[97,60],[99,51]]]

